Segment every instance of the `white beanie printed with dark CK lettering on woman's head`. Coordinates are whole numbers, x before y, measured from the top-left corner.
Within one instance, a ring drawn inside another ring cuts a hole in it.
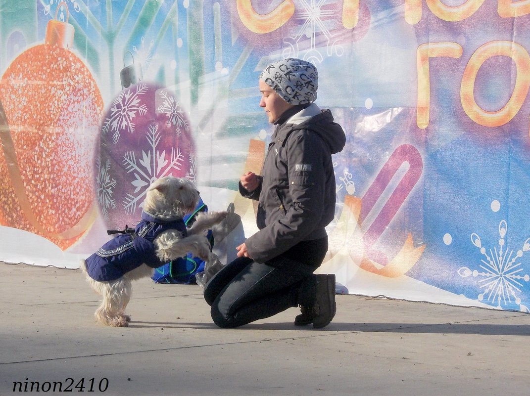
[[[305,60],[288,58],[273,62],[261,72],[260,79],[287,103],[306,104],[316,100],[319,72]]]

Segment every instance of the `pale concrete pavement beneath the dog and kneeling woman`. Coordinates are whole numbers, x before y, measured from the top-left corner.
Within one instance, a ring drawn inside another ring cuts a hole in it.
[[[0,262],[0,278],[1,396],[530,394],[523,313],[338,295],[324,329],[294,308],[219,329],[199,286],[144,279],[110,328],[80,270]]]

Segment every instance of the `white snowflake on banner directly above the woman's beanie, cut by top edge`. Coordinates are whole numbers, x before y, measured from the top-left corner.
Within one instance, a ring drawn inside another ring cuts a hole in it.
[[[337,56],[343,53],[342,47],[333,41],[333,34],[328,28],[330,18],[338,17],[332,10],[325,10],[324,6],[328,0],[300,0],[299,10],[296,18],[302,21],[295,37],[287,38],[284,43],[287,48],[282,54],[284,58],[298,58],[299,46],[308,47],[303,59],[310,62],[322,62],[324,57],[319,51],[321,43],[326,43],[326,53],[331,56],[333,50]]]

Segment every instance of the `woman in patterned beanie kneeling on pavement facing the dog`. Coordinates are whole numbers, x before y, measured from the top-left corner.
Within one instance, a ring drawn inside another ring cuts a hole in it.
[[[315,275],[328,250],[325,227],[335,213],[331,155],[346,136],[329,110],[314,104],[316,67],[283,59],[259,80],[260,106],[275,125],[262,175],[240,178],[240,193],[259,201],[260,229],[205,287],[211,317],[230,328],[301,307],[295,325],[321,328],[335,314],[335,276]]]

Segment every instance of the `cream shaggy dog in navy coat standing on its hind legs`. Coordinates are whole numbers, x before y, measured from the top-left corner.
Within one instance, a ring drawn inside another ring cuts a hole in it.
[[[103,296],[94,314],[97,321],[127,327],[130,317],[125,307],[131,298],[131,281],[151,277],[154,268],[188,253],[209,259],[210,244],[204,232],[223,221],[228,212],[199,213],[187,229],[182,217],[195,210],[198,200],[199,193],[188,179],[158,179],[147,189],[142,221],[135,229],[126,229],[82,260],[87,280]]]

